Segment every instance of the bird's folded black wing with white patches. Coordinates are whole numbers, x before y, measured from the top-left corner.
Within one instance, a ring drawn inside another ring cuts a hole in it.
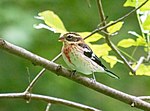
[[[83,48],[84,51],[84,55],[87,56],[88,58],[90,58],[91,60],[93,60],[94,62],[96,62],[98,65],[100,65],[101,67],[103,67],[104,69],[106,69],[106,67],[102,64],[102,62],[100,61],[100,59],[93,53],[92,49],[85,43],[79,43],[78,44],[80,47]]]

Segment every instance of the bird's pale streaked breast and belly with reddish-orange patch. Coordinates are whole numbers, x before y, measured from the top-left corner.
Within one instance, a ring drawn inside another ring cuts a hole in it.
[[[66,52],[65,52],[66,51]],[[63,59],[66,64],[73,70],[89,75],[93,72],[104,72],[104,69],[93,60],[85,56],[82,51],[70,47],[63,50]]]

